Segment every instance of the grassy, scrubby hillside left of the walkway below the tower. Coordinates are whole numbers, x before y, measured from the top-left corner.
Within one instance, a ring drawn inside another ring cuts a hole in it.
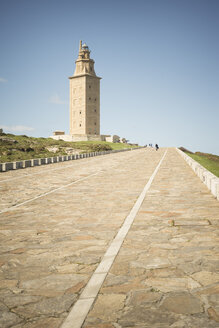
[[[66,142],[3,133],[0,135],[0,163],[131,147],[133,146],[105,141]]]

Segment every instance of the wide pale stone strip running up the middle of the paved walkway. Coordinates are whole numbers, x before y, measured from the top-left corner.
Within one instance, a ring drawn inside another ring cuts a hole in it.
[[[65,322],[61,326],[61,328],[80,328],[86,319],[86,316],[89,310],[92,307],[95,298],[106,278],[107,273],[109,272],[116,255],[118,254],[122,243],[138,213],[138,210],[141,207],[141,204],[146,196],[147,191],[149,190],[154,177],[159,170],[160,165],[162,164],[167,150],[165,151],[163,157],[161,158],[159,164],[157,165],[156,169],[154,170],[153,174],[151,175],[149,181],[146,183],[142,193],[138,197],[135,205],[133,206],[131,212],[126,217],[122,227],[119,229],[116,237],[113,239],[111,245],[107,249],[106,253],[104,254],[102,261],[98,265],[97,269],[95,270],[94,274],[92,275],[91,279],[89,280],[87,286],[83,290],[82,294],[80,295],[78,301],[73,306],[72,310],[70,311],[68,317],[66,318]]]

